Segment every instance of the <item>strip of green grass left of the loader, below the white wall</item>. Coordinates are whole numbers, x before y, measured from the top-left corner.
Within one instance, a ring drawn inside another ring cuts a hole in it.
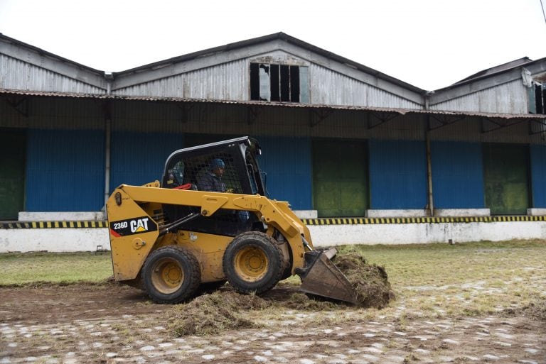
[[[112,275],[110,253],[0,254],[0,285],[102,282]]]

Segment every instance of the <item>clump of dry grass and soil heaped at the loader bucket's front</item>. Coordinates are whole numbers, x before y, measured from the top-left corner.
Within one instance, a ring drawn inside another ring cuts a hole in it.
[[[385,268],[368,264],[362,255],[354,252],[338,254],[332,261],[355,289],[358,306],[382,309],[395,299]]]

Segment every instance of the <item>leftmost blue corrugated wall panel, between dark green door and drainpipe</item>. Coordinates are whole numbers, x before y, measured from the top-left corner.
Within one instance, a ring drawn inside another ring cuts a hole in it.
[[[103,131],[28,130],[26,211],[99,211],[104,206]]]

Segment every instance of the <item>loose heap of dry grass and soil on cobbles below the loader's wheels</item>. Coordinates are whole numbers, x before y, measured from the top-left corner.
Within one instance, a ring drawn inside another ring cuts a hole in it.
[[[269,304],[262,298],[236,292],[214,292],[179,304],[167,312],[167,324],[174,336],[210,335],[229,329],[255,327],[240,311],[264,309]]]

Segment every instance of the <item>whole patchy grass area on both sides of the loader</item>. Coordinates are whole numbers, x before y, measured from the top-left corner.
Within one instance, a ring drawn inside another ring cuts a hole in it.
[[[383,265],[397,301],[422,316],[491,314],[545,298],[546,241],[339,250],[358,251],[369,263]],[[0,254],[0,266],[0,285],[100,283],[112,275],[109,253]],[[282,284],[299,285],[299,279]]]

